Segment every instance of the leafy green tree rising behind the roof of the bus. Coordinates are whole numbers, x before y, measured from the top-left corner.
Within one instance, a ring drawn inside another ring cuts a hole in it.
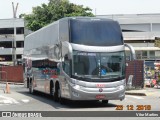
[[[31,14],[21,14],[27,21],[26,27],[36,31],[63,17],[94,16],[92,9],[83,5],[70,3],[68,0],[49,0],[48,4],[34,7]]]

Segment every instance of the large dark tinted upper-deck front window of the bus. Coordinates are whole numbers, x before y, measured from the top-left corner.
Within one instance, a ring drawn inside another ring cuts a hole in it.
[[[122,45],[123,38],[117,22],[110,20],[70,20],[70,41],[92,46]]]

